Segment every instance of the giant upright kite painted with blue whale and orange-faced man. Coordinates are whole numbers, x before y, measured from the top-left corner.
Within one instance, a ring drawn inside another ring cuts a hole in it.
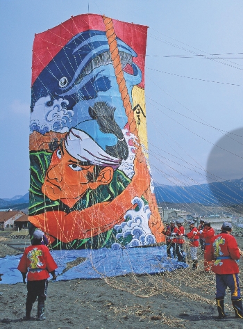
[[[28,220],[54,250],[165,241],[147,155],[146,31],[85,14],[35,35]]]

